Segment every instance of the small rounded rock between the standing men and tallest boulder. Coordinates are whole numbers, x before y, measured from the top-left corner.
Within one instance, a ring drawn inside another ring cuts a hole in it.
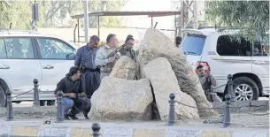
[[[116,62],[110,73],[111,77],[121,78],[126,80],[135,80],[138,72],[138,66],[131,58],[123,56]]]

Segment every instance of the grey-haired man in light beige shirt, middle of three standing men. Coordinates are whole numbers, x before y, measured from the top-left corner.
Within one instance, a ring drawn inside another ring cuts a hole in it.
[[[109,76],[112,72],[112,67],[116,62],[116,59],[120,58],[120,53],[117,51],[117,38],[115,34],[109,34],[106,39],[106,44],[99,48],[96,52],[95,63],[100,67],[101,79],[105,76]]]

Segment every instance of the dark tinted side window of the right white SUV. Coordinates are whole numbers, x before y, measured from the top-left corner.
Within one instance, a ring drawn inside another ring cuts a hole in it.
[[[237,35],[220,35],[217,52],[220,56],[251,56],[251,42]]]

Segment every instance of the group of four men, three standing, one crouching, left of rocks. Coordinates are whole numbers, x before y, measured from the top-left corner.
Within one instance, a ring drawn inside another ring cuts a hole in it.
[[[127,56],[136,60],[133,49],[135,40],[127,35],[125,43],[117,47],[118,40],[115,34],[109,34],[106,44],[101,48],[97,45],[100,39],[93,35],[87,45],[77,50],[74,66],[70,68],[66,77],[58,82],[55,96],[59,90],[63,91],[63,111],[65,119],[78,119],[76,114],[83,112],[89,119],[91,96],[99,88],[101,80],[112,72],[113,65],[120,56]]]

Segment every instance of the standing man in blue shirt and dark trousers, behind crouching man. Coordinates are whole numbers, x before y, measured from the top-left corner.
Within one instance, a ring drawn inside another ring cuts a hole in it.
[[[100,85],[100,69],[95,64],[98,42],[99,38],[96,35],[91,36],[87,45],[78,49],[74,62],[82,72],[82,90],[88,98],[91,98]]]

